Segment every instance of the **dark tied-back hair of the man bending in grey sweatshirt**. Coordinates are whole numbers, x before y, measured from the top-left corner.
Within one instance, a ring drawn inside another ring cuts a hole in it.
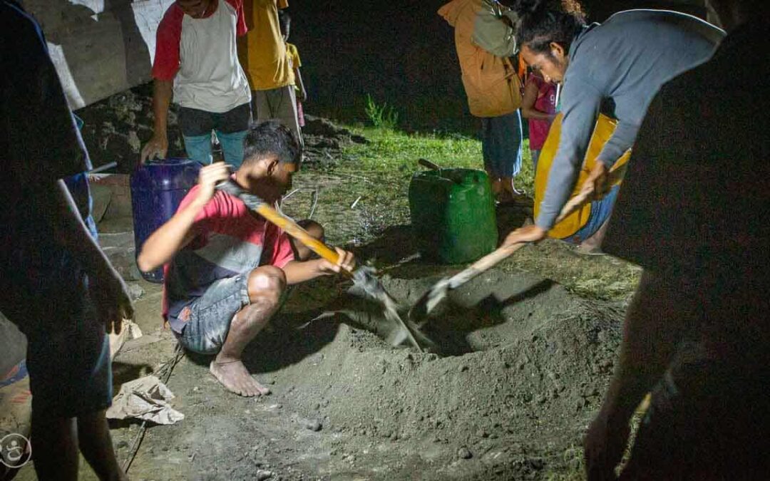
[[[518,0],[517,41],[533,52],[551,55],[551,43],[569,50],[586,25],[585,13],[577,0]]]

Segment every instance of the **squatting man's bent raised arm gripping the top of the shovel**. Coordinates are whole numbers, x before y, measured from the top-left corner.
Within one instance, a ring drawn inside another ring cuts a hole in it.
[[[139,270],[149,272],[157,269],[173,259],[176,252],[189,244],[196,235],[193,229],[196,217],[213,199],[216,184],[228,178],[229,169],[223,162],[215,162],[200,169],[196,198],[177,211],[169,222],[152,232],[142,246],[142,252],[136,258]]]

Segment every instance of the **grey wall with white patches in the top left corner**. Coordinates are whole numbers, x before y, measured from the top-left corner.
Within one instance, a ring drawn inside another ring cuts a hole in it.
[[[149,80],[173,0],[22,0],[41,23],[72,109]]]

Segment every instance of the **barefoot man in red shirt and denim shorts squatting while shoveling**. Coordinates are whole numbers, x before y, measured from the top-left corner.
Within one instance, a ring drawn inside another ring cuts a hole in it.
[[[243,164],[234,174],[222,162],[201,169],[198,185],[150,235],[136,262],[145,272],[165,265],[162,313],[182,346],[216,355],[209,369],[226,389],[259,396],[269,389],[252,378],[241,355],[279,309],[286,286],[352,270],[355,260],[341,249],[336,265],[310,259],[310,249],[293,246],[286,232],[215,189],[230,178],[274,203],[290,188],[300,167],[293,133],[278,122],[263,122],[249,129],[245,142]],[[323,237],[319,224],[304,224]]]

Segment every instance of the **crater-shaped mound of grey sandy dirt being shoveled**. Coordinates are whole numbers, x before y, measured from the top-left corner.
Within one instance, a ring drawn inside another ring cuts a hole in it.
[[[385,285],[413,302],[434,280]],[[539,471],[550,464],[541,458],[547,443],[564,451],[588,423],[587,408],[598,403],[613,366],[621,314],[524,273],[492,272],[453,298],[427,332],[460,356],[393,351],[351,330],[320,351],[316,369],[297,366],[281,378],[296,386],[300,413],[323,416],[337,433],[427,441],[454,455],[447,464],[477,456],[489,468],[484,479]],[[323,366],[333,369],[331,379]],[[511,464],[529,449],[536,456]]]

